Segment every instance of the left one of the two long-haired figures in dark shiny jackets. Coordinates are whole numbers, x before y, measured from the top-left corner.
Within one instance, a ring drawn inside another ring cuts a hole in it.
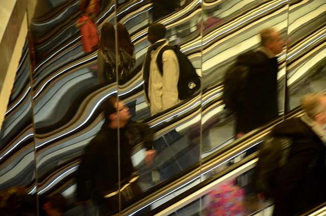
[[[112,74],[105,73],[105,62],[111,61],[112,67],[116,65],[116,40],[113,24],[105,22],[101,29],[101,40],[97,52],[97,77],[98,83],[108,82],[113,79]],[[108,63],[107,63],[108,64]]]

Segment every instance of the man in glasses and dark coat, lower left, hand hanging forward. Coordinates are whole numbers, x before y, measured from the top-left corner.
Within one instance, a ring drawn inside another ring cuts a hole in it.
[[[101,109],[104,111],[105,122],[95,138],[86,146],[76,173],[76,181],[78,200],[92,199],[99,207],[99,215],[104,215],[119,207],[119,172],[120,187],[130,183],[130,187],[126,186],[121,191],[122,204],[142,193],[135,181],[138,175],[135,174],[131,162],[132,147],[144,142],[148,166],[155,156],[155,150],[152,149],[153,133],[149,126],[130,122],[129,108],[122,101],[117,102],[115,97],[110,97],[103,102]]]

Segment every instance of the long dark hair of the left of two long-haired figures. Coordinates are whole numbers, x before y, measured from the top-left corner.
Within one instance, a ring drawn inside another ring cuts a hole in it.
[[[104,48],[107,48],[115,53],[115,41],[115,31],[113,24],[110,22],[105,22],[101,29],[101,39],[98,48],[102,51],[104,51]]]

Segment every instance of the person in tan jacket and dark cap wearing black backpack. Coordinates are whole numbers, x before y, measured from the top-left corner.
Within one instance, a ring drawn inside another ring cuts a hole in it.
[[[170,46],[166,28],[155,23],[149,26],[148,47],[143,65],[145,99],[155,115],[199,93],[201,78],[180,47]]]

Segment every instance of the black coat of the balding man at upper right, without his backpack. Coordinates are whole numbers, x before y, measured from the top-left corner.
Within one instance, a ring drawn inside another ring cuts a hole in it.
[[[275,58],[267,58],[262,51],[248,51],[237,57],[237,65],[250,67],[246,99],[237,112],[236,132],[250,132],[278,117],[277,72]]]

